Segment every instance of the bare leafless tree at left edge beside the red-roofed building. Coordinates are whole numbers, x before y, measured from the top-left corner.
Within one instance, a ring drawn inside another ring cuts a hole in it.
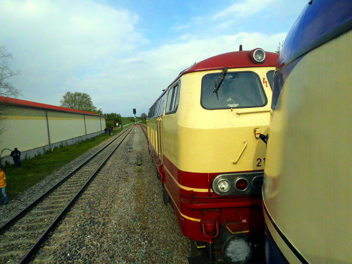
[[[5,45],[0,46],[0,96],[5,96],[0,103],[0,134],[3,133],[8,127],[5,127],[4,120],[7,117],[6,97],[17,98],[21,94],[21,90],[14,87],[10,82],[10,78],[18,75],[20,71],[11,70],[8,65],[8,60],[13,59],[12,53],[8,53]]]

